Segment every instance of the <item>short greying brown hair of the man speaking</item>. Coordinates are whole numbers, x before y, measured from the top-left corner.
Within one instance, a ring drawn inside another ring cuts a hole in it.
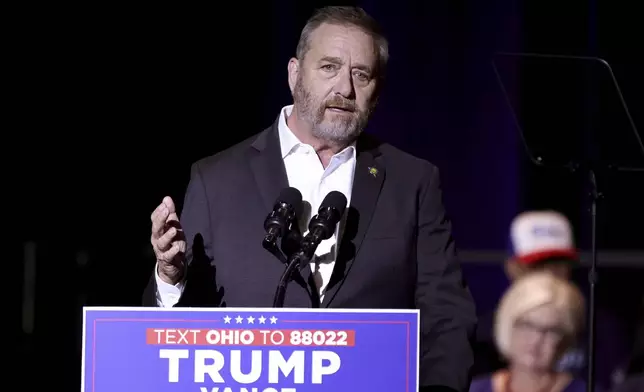
[[[378,22],[360,7],[330,6],[316,10],[302,29],[295,57],[299,60],[304,58],[310,49],[311,34],[325,23],[337,26],[354,26],[369,34],[378,47],[378,77],[384,77],[389,61],[389,43]]]

